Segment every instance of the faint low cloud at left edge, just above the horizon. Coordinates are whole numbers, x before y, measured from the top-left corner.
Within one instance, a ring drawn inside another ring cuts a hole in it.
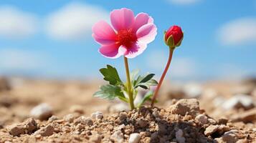
[[[22,49],[0,49],[1,70],[41,69],[47,65],[49,58],[37,51]]]

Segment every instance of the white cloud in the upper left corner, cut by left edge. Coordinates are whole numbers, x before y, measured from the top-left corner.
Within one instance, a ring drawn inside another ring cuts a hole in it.
[[[0,36],[17,39],[31,36],[36,31],[36,16],[11,6],[0,7]]]

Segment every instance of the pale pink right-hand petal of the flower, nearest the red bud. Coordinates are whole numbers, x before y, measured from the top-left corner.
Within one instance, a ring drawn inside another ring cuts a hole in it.
[[[156,26],[153,23],[149,23],[141,26],[136,32],[136,36],[138,37],[138,41],[141,41],[145,44],[150,43],[156,37]]]

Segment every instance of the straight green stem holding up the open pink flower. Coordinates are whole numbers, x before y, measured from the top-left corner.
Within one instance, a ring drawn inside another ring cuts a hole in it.
[[[129,104],[131,109],[134,109],[134,104],[133,104],[133,90],[131,89],[131,78],[130,78],[130,71],[129,71],[129,66],[128,66],[128,59],[124,57],[125,61],[125,71],[126,71],[126,78],[127,78],[127,90],[128,90],[128,96],[129,96]]]

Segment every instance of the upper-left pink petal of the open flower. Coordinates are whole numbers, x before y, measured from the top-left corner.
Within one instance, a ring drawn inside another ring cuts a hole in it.
[[[113,44],[115,43],[116,34],[107,22],[99,21],[93,26],[93,38],[100,44]]]

